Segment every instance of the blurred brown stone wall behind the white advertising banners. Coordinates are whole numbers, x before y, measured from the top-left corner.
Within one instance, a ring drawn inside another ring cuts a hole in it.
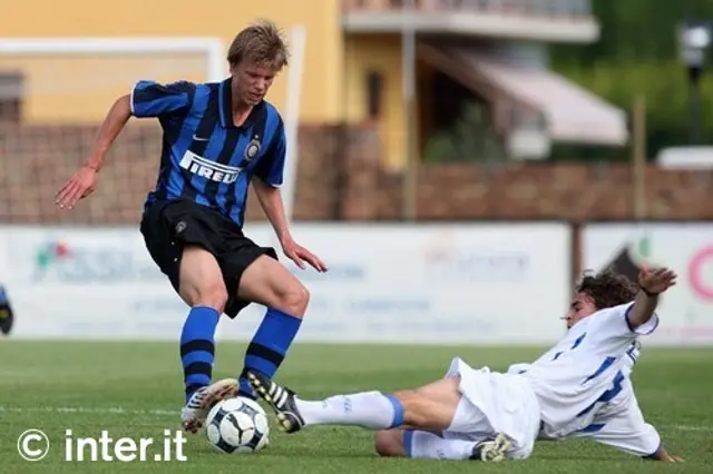
[[[71,213],[53,205],[61,184],[82,162],[96,127],[0,129],[0,221],[135,224],[156,178],[160,130],[133,122],[119,137],[92,197]],[[379,166],[371,128],[300,129],[299,220],[393,220],[401,215],[401,177]],[[627,165],[521,164],[426,166],[418,177],[422,220],[632,219]],[[713,219],[712,171],[646,169],[651,219]],[[248,219],[264,216],[254,196]]]

